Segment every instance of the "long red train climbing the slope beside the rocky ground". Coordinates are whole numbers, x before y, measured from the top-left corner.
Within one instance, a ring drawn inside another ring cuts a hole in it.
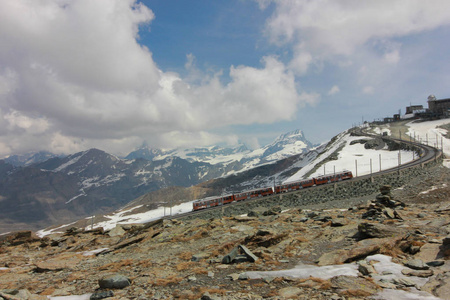
[[[245,191],[237,194],[229,194],[225,196],[213,196],[208,197],[205,199],[195,200],[193,202],[193,210],[200,210],[205,209],[209,207],[219,206],[219,205],[225,205],[231,202],[235,201],[243,201],[251,198],[256,197],[265,197],[270,196],[272,194],[280,194],[280,193],[287,193],[291,191],[296,191],[300,189],[304,189],[307,187],[315,186],[315,185],[321,185],[321,184],[327,184],[327,183],[333,183],[341,180],[346,179],[352,179],[353,174],[350,171],[344,171],[341,173],[336,174],[329,174],[329,175],[323,175],[315,178],[310,178],[306,180],[301,181],[293,181],[293,182],[287,182],[282,185],[277,185],[275,187],[268,187],[268,188],[261,188],[251,191]]]

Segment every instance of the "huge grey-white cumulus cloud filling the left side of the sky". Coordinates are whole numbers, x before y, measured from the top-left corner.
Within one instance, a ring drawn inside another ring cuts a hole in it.
[[[143,140],[169,143],[172,136],[179,142],[171,144],[185,144],[186,133],[193,144],[214,142],[203,133],[291,120],[317,98],[299,93],[294,74],[274,56],[260,68],[231,66],[226,84],[220,72],[196,71],[192,54],[191,77],[164,72],[151,45],[138,43],[140,27],[154,18],[135,0],[2,1],[0,123],[7,131],[0,130],[0,156],[91,145],[126,153]]]

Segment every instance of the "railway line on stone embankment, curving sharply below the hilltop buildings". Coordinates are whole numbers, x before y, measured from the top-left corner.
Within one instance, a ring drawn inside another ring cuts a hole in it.
[[[434,147],[428,146],[428,145],[423,145],[423,144],[415,142],[415,141],[408,141],[408,140],[403,140],[403,139],[391,138],[388,136],[375,135],[375,134],[365,132],[362,128],[353,129],[353,134],[360,135],[360,136],[366,136],[366,137],[370,137],[370,138],[381,138],[383,140],[388,140],[388,141],[396,142],[399,144],[408,145],[409,147],[415,149],[415,151],[418,153],[418,157],[407,163],[399,164],[397,167],[384,169],[384,170],[381,170],[378,172],[373,172],[371,174],[367,174],[367,175],[363,175],[363,176],[353,177],[352,179],[348,179],[345,181],[337,181],[337,182],[333,182],[333,183],[329,183],[329,184],[311,186],[311,187],[308,187],[308,190],[325,188],[326,186],[329,186],[330,184],[334,184],[334,185],[348,184],[350,182],[367,180],[370,178],[384,176],[384,175],[392,174],[395,172],[398,172],[400,174],[402,172],[402,170],[405,170],[405,169],[424,167],[426,164],[428,164],[432,161],[437,161],[437,159],[439,159],[442,156],[442,152],[440,150],[438,150]],[[303,189],[289,191],[289,192],[283,193],[282,195],[289,195],[292,193],[301,193],[302,191],[303,191]],[[230,207],[230,206],[234,206],[234,205],[242,205],[242,204],[251,203],[251,202],[255,202],[255,201],[261,201],[262,199],[270,199],[272,197],[279,197],[279,196],[280,196],[280,194],[273,194],[273,195],[266,196],[266,197],[256,197],[256,198],[251,198],[251,199],[247,199],[247,200],[239,201],[239,202],[235,201],[235,202],[226,204],[225,206],[219,205],[219,206],[209,207],[209,208],[205,208],[205,209],[198,210],[198,211],[191,211],[191,212],[177,214],[177,215],[165,216],[164,218],[165,219],[185,218],[185,217],[189,217],[189,216],[200,215],[205,212],[210,212],[210,211],[214,211],[214,210],[222,210],[222,209],[224,209],[224,207]]]

